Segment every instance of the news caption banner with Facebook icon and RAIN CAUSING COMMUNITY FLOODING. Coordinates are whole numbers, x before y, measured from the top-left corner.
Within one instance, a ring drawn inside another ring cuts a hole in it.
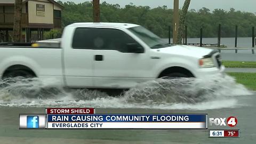
[[[20,114],[20,129],[207,129],[207,114],[95,114],[93,108],[50,108],[46,114]]]

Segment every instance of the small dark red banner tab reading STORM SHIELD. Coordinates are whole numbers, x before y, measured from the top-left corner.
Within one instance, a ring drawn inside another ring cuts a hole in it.
[[[46,108],[46,114],[94,114],[94,108]]]

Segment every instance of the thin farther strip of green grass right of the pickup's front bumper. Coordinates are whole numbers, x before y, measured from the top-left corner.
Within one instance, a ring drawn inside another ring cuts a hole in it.
[[[256,68],[256,61],[222,61],[227,68]]]

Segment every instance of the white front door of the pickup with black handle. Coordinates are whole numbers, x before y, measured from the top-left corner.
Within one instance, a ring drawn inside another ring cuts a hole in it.
[[[150,79],[148,52],[121,29],[92,28],[94,84],[105,88],[129,88]],[[128,45],[138,45],[133,53]]]

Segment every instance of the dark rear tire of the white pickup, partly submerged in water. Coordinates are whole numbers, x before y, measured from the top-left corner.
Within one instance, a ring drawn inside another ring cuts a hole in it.
[[[13,78],[13,77],[25,77],[25,78],[33,78],[35,75],[31,74],[28,70],[12,70],[8,73],[4,74],[3,78]]]

